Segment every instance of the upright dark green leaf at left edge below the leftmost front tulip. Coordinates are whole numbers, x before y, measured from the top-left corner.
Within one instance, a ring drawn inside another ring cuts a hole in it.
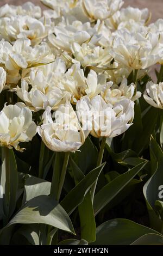
[[[14,152],[2,147],[2,166],[0,169],[1,210],[0,218],[8,219],[15,210],[18,188],[18,174]],[[4,214],[3,214],[4,213]]]

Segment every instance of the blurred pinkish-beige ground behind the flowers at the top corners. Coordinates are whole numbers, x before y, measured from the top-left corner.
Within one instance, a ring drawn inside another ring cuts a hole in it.
[[[139,8],[148,8],[152,13],[152,22],[156,21],[159,18],[163,19],[163,0],[123,0],[124,5],[123,7],[127,7],[128,5],[132,7],[139,7]],[[27,0],[0,0],[0,6],[8,3],[14,5],[21,5],[22,3],[27,2]],[[31,0],[34,4],[38,4],[42,7],[40,0]]]

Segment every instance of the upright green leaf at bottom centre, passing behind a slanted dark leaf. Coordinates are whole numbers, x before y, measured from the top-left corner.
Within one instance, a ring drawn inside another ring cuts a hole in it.
[[[73,172],[74,180],[76,185],[84,179],[82,170],[79,169],[77,164],[71,159],[71,169]],[[88,191],[84,197],[84,200],[78,206],[79,217],[80,217],[80,229],[82,239],[93,242],[96,240],[96,222],[93,212],[91,192]],[[87,216],[87,217],[86,217]]]

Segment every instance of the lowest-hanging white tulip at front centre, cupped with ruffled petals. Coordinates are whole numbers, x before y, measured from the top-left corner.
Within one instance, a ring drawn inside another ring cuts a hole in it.
[[[71,104],[60,105],[54,117],[53,122],[51,108],[47,107],[42,116],[43,125],[37,128],[46,147],[58,152],[77,151],[85,141],[85,134]]]

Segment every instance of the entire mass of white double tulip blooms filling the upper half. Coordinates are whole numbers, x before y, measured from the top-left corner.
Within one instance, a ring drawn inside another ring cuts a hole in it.
[[[141,97],[131,75],[163,64],[163,20],[148,26],[148,9],[121,9],[122,0],[41,2],[43,13],[30,2],[0,8],[0,99],[9,90],[22,101],[0,112],[0,145],[22,150],[36,133],[35,112],[54,151],[78,150],[89,133],[121,135]],[[162,88],[148,82],[145,100],[163,108]]]

